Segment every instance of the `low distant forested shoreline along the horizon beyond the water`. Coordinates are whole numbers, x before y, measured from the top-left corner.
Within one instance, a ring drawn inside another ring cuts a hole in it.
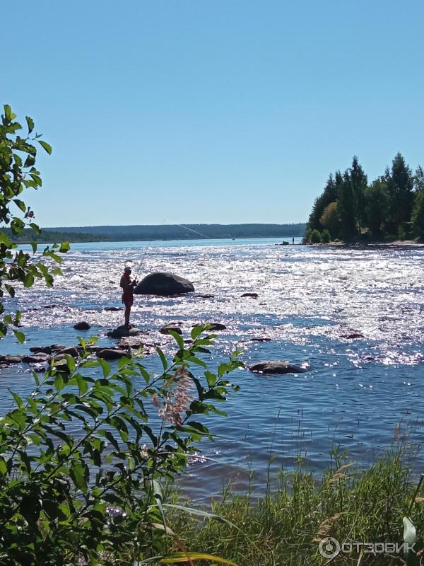
[[[40,234],[31,229],[11,234],[1,229],[16,243],[37,241],[151,241],[194,240],[209,238],[291,238],[303,236],[306,224],[163,224],[162,226],[76,226],[43,228]]]

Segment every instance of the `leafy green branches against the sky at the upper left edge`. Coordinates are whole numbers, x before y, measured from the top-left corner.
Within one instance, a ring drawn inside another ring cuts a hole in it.
[[[5,314],[4,294],[13,297],[16,284],[32,287],[35,279],[44,279],[50,287],[53,284],[53,275],[60,270],[49,270],[42,259],[49,258],[60,263],[58,252],[64,253],[68,248],[66,243],[61,246],[54,244],[36,255],[37,244],[33,242],[33,254],[17,250],[15,237],[19,236],[25,227],[30,227],[35,233],[40,232],[34,222],[33,211],[18,198],[25,188],[37,190],[42,185],[40,171],[35,168],[35,143],[40,144],[48,154],[52,152],[49,144],[40,139],[40,134],[31,135],[34,122],[29,116],[26,117],[26,125],[28,132],[21,137],[18,132],[23,127],[16,121],[11,107],[4,105],[0,124],[0,228],[8,226],[9,231],[5,233],[0,230],[0,339],[6,335],[9,325],[18,325],[20,320],[19,312]],[[23,334],[17,330],[14,330],[14,333],[22,342]]]

